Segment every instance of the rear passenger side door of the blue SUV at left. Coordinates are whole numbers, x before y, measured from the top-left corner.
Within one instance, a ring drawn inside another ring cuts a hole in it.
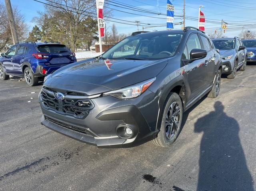
[[[27,51],[27,47],[25,45],[19,45],[16,55],[14,57],[12,57],[12,63],[13,63],[13,73],[14,74],[18,74],[18,75],[22,75],[22,62],[23,59],[25,58],[24,54]]]

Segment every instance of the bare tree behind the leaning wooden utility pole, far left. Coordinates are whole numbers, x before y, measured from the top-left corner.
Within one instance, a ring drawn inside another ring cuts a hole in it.
[[[28,35],[28,26],[24,16],[20,13],[17,7],[13,7],[14,21],[16,31],[20,41],[25,40]],[[12,44],[12,35],[10,25],[7,19],[6,7],[0,3],[0,51],[6,51],[9,45]]]

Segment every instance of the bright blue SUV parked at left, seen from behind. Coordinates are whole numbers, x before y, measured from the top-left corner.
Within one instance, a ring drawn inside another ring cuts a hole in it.
[[[29,86],[57,69],[76,62],[76,55],[58,42],[19,42],[0,57],[0,79],[24,77]]]

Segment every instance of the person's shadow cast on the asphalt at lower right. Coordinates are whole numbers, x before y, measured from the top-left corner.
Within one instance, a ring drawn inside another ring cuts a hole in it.
[[[199,118],[194,132],[203,132],[197,191],[253,191],[253,180],[238,136],[238,122],[220,101],[215,111]]]

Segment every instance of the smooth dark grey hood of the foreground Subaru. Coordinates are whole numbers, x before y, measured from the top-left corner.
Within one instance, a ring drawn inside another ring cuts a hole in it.
[[[166,64],[167,59],[157,61],[88,59],[55,71],[44,85],[94,95],[156,77]]]

